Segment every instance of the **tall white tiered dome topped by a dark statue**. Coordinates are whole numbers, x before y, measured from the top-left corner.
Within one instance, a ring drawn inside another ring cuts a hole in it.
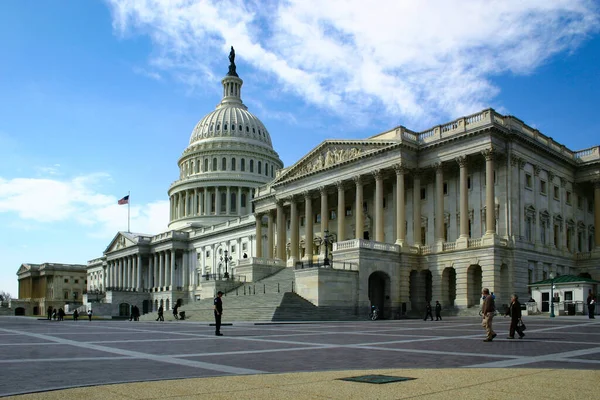
[[[179,179],[169,188],[169,229],[252,214],[256,188],[283,167],[264,124],[242,102],[233,48],[229,60],[221,102],[196,124],[179,158]]]

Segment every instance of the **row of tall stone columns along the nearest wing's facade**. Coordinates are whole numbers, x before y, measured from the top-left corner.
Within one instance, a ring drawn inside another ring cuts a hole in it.
[[[495,191],[494,191],[494,151],[493,149],[485,150],[482,152],[485,157],[485,173],[486,173],[486,209],[491,210],[486,212],[486,235],[494,234],[496,232],[496,219],[495,219]],[[468,167],[467,158],[458,157],[456,161],[460,167],[460,237],[467,238],[469,236],[468,228]],[[401,165],[394,167],[396,172],[396,243],[403,244],[406,241],[405,225],[406,225],[406,186],[405,186],[405,175],[409,172],[406,168]],[[375,241],[383,242],[385,240],[384,235],[384,218],[383,218],[383,171],[374,171],[373,177],[375,179]],[[419,170],[410,171],[413,176],[413,238],[415,245],[421,245],[421,176]],[[345,238],[345,190],[346,186],[344,182],[337,182],[338,192],[338,203],[337,203],[337,238],[338,241],[342,241]],[[363,238],[364,232],[364,212],[363,212],[363,201],[364,201],[364,177],[357,176],[354,178],[355,186],[355,226],[356,226],[356,239]],[[321,187],[319,189],[321,194],[321,238],[325,237],[325,231],[329,229],[329,208],[328,208],[328,188]],[[444,172],[441,164],[435,166],[435,193],[436,193],[436,223],[435,223],[435,239],[436,241],[444,241]],[[312,192],[304,193],[304,204],[306,216],[305,223],[305,246],[306,254],[312,254],[313,246],[313,221],[312,221]],[[600,195],[598,196],[600,198]],[[298,203],[301,198],[299,196],[292,196],[289,199],[290,203],[290,256],[292,259],[297,260],[299,257],[299,226],[298,226]],[[262,254],[262,218],[264,213],[256,214],[256,237],[257,237],[257,257],[263,257]],[[272,253],[273,249],[273,212],[266,213],[268,217],[267,226],[267,241],[268,241],[268,252]],[[285,229],[285,213],[283,201],[278,200],[276,204],[275,215],[277,219],[277,254],[275,258],[284,260],[286,257],[286,229]],[[281,228],[280,228],[281,227]],[[600,235],[599,235],[600,236]],[[273,254],[266,255],[269,258],[273,258]]]

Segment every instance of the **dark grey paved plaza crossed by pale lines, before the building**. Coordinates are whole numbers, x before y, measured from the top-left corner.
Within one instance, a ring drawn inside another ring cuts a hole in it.
[[[346,374],[353,376],[363,370],[465,367],[518,368],[538,377],[543,376],[539,369],[589,370],[583,373],[597,382],[600,321],[596,321],[528,317],[526,337],[508,340],[509,319],[497,317],[498,337],[484,343],[477,317],[440,322],[234,322],[222,328],[222,337],[215,337],[214,327],[206,323],[186,321],[0,317],[0,396],[179,378],[356,370]]]

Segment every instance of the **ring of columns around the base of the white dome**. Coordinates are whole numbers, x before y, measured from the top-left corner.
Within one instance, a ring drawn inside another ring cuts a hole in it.
[[[190,190],[182,190],[175,193],[170,198],[171,220],[193,216],[210,216],[210,215],[242,215],[242,194],[246,195],[246,207],[248,201],[252,198],[251,194],[254,189],[248,187],[231,187],[226,186],[222,190],[220,186],[196,188]],[[225,212],[221,212],[221,194],[225,193]],[[231,194],[235,193],[235,212],[234,204],[231,203]],[[212,194],[215,195],[215,207],[213,209]]]

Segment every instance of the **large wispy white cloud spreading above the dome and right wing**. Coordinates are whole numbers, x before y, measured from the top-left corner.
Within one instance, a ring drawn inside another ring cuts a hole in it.
[[[491,78],[532,73],[599,26],[594,0],[108,1],[115,29],[150,35],[151,64],[179,80],[222,75],[233,44],[312,104],[421,124],[487,107]]]

